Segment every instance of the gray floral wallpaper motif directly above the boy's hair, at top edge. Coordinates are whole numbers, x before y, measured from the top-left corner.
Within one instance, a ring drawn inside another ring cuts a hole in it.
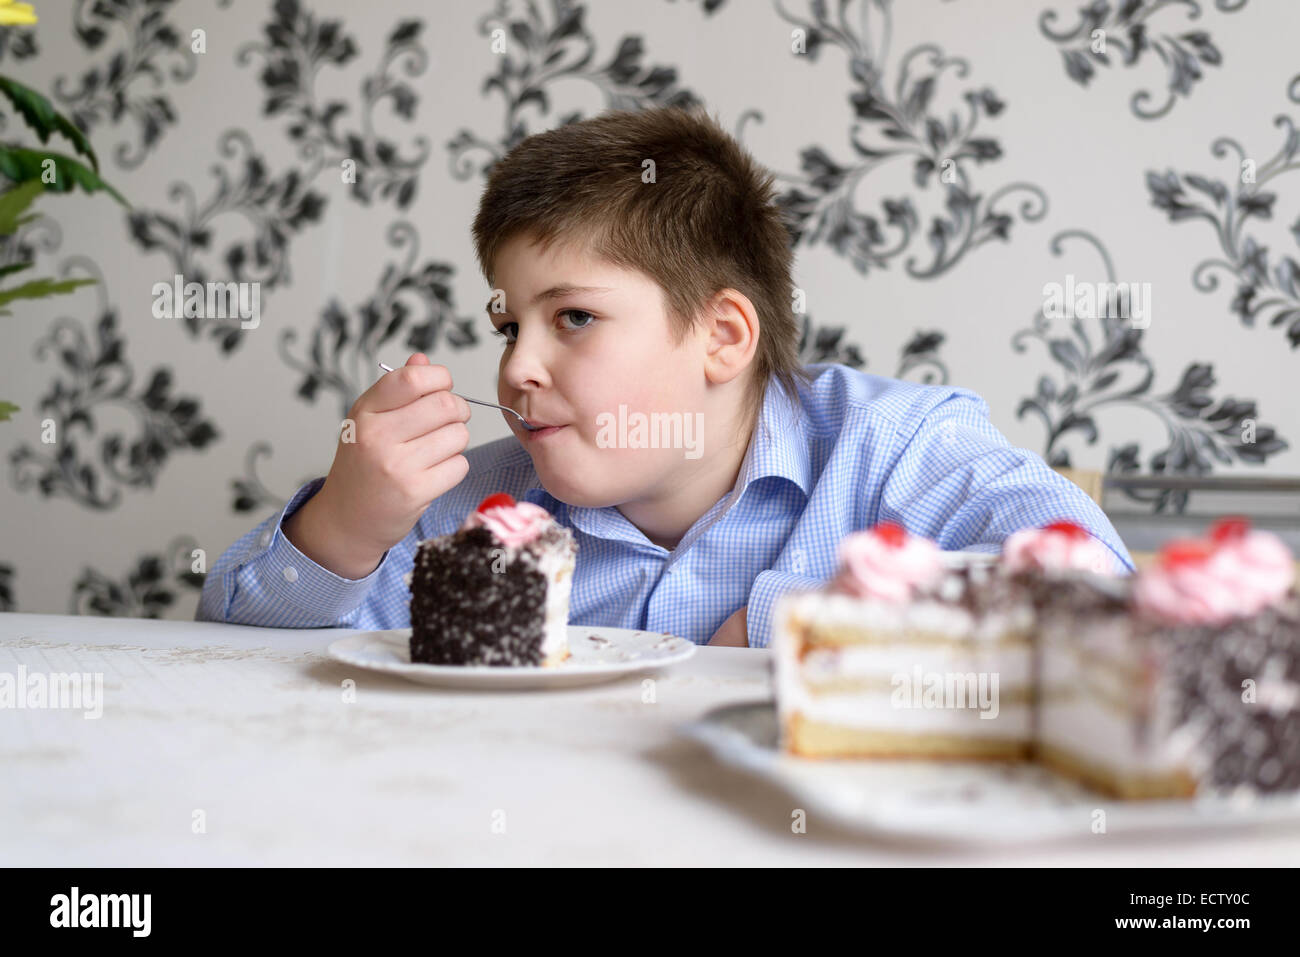
[[[543,16],[541,8],[547,8]],[[524,108],[532,103],[543,117],[550,113],[547,85],[558,79],[584,79],[604,94],[608,109],[642,109],[646,107],[690,107],[699,103],[694,94],[677,87],[677,70],[671,66],[645,69],[641,57],[645,44],[640,36],[624,36],[618,52],[603,66],[592,66],[595,40],[582,23],[586,8],[571,0],[529,3],[525,17],[512,16],[508,0],[497,0],[497,9],[478,23],[478,31],[504,43],[499,53],[500,69],[484,82],[482,91],[500,91],[506,98],[504,134],[499,142],[462,130],[447,143],[451,173],[467,179],[474,172],[471,152],[486,153],[477,172],[488,173],[497,160],[524,139],[528,125]],[[558,126],[581,118],[566,113]],[[534,130],[536,131],[536,130]]]

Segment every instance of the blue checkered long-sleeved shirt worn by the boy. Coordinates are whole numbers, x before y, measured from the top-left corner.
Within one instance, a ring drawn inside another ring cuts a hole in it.
[[[534,502],[578,545],[572,625],[668,632],[707,644],[749,605],[749,644],[766,648],[772,606],[824,585],[844,536],[892,520],[944,549],[997,551],[1027,525],[1070,519],[1100,538],[1117,572],[1132,559],[1105,514],[1036,454],[993,428],[988,404],[954,386],[916,385],[822,363],[801,406],[774,382],[734,488],[677,546],[655,545],[615,507],[552,498],[514,437],[465,452],[469,473],[425,510],[380,566],[342,579],[303,555],[282,523],[324,482],[230,546],[208,573],[198,618],[281,628],[406,628],[417,544],[456,531],[486,495]]]

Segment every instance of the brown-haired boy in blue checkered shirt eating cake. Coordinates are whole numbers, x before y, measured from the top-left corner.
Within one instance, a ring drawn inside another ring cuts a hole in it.
[[[771,183],[698,109],[519,143],[473,237],[503,339],[497,400],[552,428],[503,412],[514,437],[467,451],[468,403],[411,356],[352,406],[329,475],[212,567],[199,618],[407,627],[417,544],[497,492],[573,529],[572,624],[697,644],[766,646],[776,598],[826,583],[840,540],[883,520],[996,551],[1071,519],[1131,571],[1101,510],[1011,447],[974,393],[800,365]]]

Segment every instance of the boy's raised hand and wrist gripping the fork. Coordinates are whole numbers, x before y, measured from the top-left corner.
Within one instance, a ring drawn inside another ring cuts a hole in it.
[[[364,579],[420,515],[469,472],[469,403],[451,373],[416,352],[348,410],[355,442],[339,437],[325,484],[283,525],[313,562]]]

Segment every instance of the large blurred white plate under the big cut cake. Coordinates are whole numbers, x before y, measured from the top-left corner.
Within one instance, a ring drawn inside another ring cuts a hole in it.
[[[1105,835],[1300,823],[1300,794],[1118,801],[1032,763],[800,758],[777,750],[770,701],[716,709],[680,731],[723,763],[785,788],[809,814],[878,836],[1005,845],[1101,840],[1098,822]]]

